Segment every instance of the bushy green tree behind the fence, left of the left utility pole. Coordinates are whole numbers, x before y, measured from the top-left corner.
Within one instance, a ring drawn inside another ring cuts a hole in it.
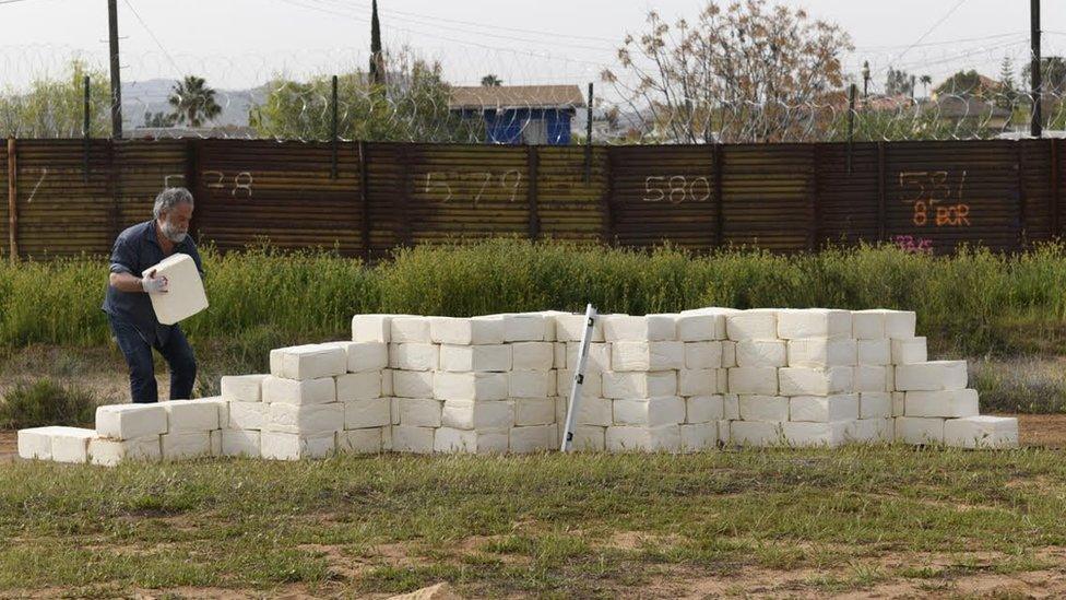
[[[0,136],[20,138],[80,138],[85,117],[85,77],[90,78],[88,133],[110,134],[110,84],[104,71],[71,60],[58,79],[37,79],[20,93],[0,91]]]

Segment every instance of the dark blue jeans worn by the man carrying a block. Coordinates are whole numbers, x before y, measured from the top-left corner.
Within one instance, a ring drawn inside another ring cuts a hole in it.
[[[165,344],[144,341],[132,323],[112,315],[107,316],[118,346],[130,367],[130,396],[133,402],[158,402],[159,390],[155,383],[155,365],[152,349],[155,348],[170,366],[170,400],[192,398],[192,384],[197,378],[197,358],[185,333],[177,326],[170,330]]]

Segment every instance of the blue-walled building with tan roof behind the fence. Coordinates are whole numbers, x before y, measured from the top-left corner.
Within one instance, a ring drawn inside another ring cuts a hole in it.
[[[577,85],[457,86],[448,108],[464,119],[483,119],[486,143],[570,143],[570,121],[585,106]]]

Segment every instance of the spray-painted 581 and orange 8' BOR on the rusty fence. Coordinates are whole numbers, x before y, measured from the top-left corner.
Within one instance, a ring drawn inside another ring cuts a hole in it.
[[[970,225],[970,205],[962,201],[967,172],[952,177],[947,170],[899,174],[900,200],[911,204],[911,222],[919,227]]]

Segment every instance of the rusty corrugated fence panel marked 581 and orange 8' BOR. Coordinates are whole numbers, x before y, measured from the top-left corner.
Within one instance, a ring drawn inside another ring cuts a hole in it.
[[[888,231],[925,240],[937,252],[962,243],[1017,249],[1019,148],[1009,141],[891,144],[885,170]]]

